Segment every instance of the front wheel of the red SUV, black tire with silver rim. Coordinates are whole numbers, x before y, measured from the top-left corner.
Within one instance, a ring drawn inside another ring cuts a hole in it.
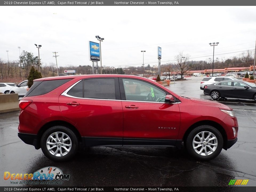
[[[204,131],[204,137],[203,137],[203,131]],[[204,140],[207,139],[207,136],[211,133],[209,140]],[[198,135],[199,137],[202,136],[202,140],[196,137]],[[214,139],[216,138],[216,139]],[[195,140],[194,140],[195,139]],[[199,142],[193,143],[194,142]],[[206,142],[207,141],[207,142]],[[200,143],[202,142],[202,143]],[[217,146],[214,146],[216,145]],[[202,147],[201,147],[202,146]],[[195,147],[195,149],[194,149]],[[210,125],[201,125],[193,129],[189,135],[187,136],[186,140],[186,149],[187,152],[194,157],[197,160],[200,161],[208,161],[211,159],[214,159],[219,155],[223,147],[223,138],[221,133],[213,126]],[[210,150],[210,148],[212,150]],[[202,151],[201,151],[202,150]],[[201,152],[201,154],[200,154]]]

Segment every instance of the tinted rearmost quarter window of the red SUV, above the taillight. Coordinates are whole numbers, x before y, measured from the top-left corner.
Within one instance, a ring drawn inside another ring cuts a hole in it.
[[[34,81],[32,87],[24,97],[43,95],[70,81],[71,79],[59,79],[50,81]]]

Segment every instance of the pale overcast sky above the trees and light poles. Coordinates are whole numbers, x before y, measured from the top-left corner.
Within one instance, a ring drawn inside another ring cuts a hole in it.
[[[254,50],[255,18],[254,6],[2,6],[0,58],[7,61],[9,50],[9,61],[17,61],[18,46],[38,56],[37,44],[47,65],[55,63],[53,51],[58,66],[91,65],[88,41],[99,43],[99,35],[105,38],[103,66],[141,66],[141,50],[144,63],[154,66],[157,46],[161,64],[181,51],[206,61],[213,57],[213,42],[219,42],[214,58],[226,60]]]

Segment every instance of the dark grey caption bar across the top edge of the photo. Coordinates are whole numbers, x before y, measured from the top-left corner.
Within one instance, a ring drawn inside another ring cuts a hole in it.
[[[252,0],[157,0],[157,1],[123,1],[123,0],[77,0],[77,1],[37,1],[37,0],[10,0],[0,1],[1,6],[255,6]]]

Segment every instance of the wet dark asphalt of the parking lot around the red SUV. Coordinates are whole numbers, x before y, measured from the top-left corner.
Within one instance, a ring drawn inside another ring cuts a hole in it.
[[[169,89],[211,100],[200,90],[201,79],[176,81]],[[227,186],[231,179],[249,179],[247,186],[256,186],[256,103],[246,99],[216,102],[234,109],[238,141],[207,162],[195,161],[175,147],[91,147],[70,162],[56,163],[18,138],[19,111],[0,114],[0,186],[15,186],[3,179],[4,171],[34,173],[50,166],[70,174],[61,186]]]

